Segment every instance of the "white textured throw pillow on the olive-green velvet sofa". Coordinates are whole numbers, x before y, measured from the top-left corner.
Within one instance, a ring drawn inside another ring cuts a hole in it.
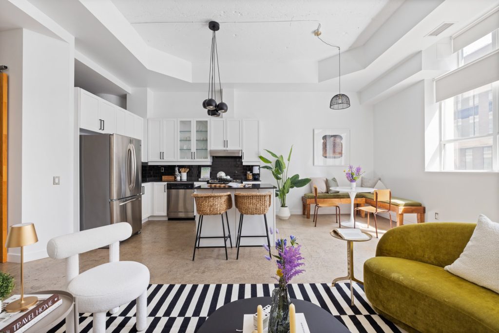
[[[499,223],[480,215],[463,253],[445,270],[499,293]]]

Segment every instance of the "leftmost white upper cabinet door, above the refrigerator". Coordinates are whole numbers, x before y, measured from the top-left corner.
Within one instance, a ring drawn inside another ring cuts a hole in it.
[[[102,128],[102,121],[99,119],[100,98],[80,88],[74,90],[74,103],[80,114],[80,128],[100,131]]]

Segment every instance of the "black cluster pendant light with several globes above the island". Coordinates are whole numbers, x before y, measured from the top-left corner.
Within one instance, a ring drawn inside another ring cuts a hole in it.
[[[220,30],[220,24],[215,21],[210,21],[208,27],[213,31],[212,48],[210,53],[210,78],[208,81],[208,98],[203,101],[203,108],[208,110],[208,115],[212,117],[220,117],[222,113],[227,112],[229,107],[224,103],[224,94],[222,92],[222,82],[220,81],[220,68],[218,63],[218,50],[217,50],[217,34],[216,31]],[[215,62],[217,66],[215,67]],[[215,90],[215,70],[218,73],[219,86],[220,86],[220,103],[217,103],[217,92]]]

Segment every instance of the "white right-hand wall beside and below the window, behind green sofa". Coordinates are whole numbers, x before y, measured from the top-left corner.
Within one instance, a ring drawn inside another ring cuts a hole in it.
[[[425,85],[374,105],[374,171],[398,197],[426,206],[426,220],[499,221],[499,174],[425,172]]]

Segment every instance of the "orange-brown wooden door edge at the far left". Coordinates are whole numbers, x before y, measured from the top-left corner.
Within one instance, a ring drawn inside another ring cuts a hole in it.
[[[0,262],[7,261],[7,74],[0,72]]]

